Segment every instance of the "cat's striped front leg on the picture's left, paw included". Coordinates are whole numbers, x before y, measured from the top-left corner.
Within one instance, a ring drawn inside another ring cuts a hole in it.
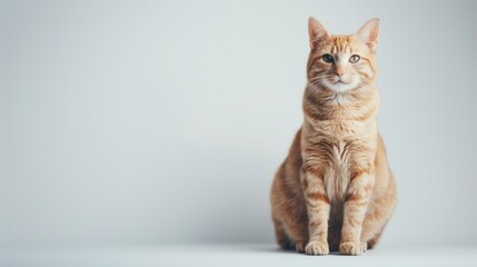
[[[328,219],[330,202],[326,195],[324,174],[318,170],[301,172],[301,184],[308,210],[308,255],[328,255]]]

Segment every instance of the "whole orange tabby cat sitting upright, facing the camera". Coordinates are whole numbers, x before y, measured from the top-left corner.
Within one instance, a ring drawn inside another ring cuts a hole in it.
[[[277,243],[309,255],[360,255],[375,246],[396,205],[377,129],[378,19],[330,36],[309,19],[305,120],[271,188]]]

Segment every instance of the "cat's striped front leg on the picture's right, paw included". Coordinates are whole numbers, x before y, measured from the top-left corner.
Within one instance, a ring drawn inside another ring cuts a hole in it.
[[[360,240],[360,236],[374,185],[374,171],[360,171],[351,177],[345,199],[340,254],[361,255],[367,249],[367,244]]]

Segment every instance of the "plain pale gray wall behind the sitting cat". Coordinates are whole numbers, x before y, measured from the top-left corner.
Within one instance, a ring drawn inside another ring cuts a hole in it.
[[[307,19],[379,17],[386,244],[477,244],[476,1],[1,1],[0,244],[272,241]]]

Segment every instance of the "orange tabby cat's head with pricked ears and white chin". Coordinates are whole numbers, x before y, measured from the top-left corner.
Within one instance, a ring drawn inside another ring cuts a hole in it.
[[[310,18],[308,80],[318,89],[345,92],[375,81],[378,19],[367,21],[355,34],[330,36]]]

